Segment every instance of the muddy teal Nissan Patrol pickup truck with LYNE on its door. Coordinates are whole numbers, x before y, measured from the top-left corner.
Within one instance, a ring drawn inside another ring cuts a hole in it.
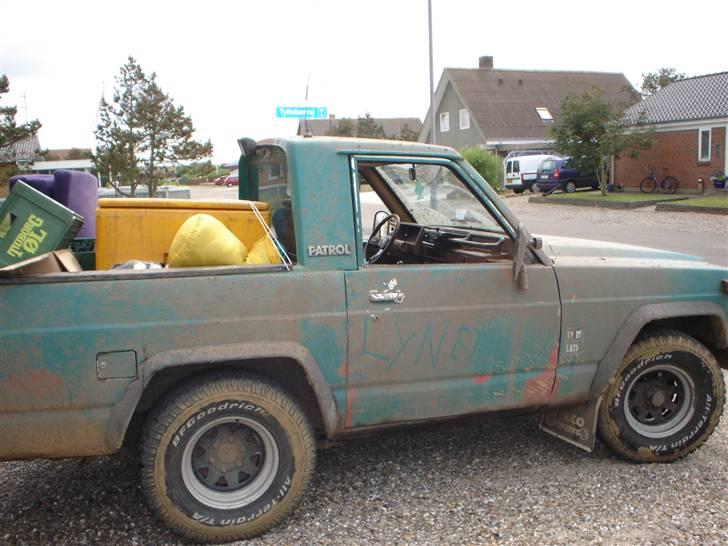
[[[221,542],[280,522],[355,434],[527,410],[668,462],[715,429],[726,268],[534,237],[446,147],[240,147],[284,263],[0,278],[0,460],[138,447],[159,518]]]

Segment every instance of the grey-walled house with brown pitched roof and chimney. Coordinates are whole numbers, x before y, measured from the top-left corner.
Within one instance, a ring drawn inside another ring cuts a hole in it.
[[[624,74],[496,69],[490,56],[480,57],[478,68],[446,68],[434,100],[437,144],[484,146],[503,156],[548,148],[561,101],[592,88],[625,108],[639,96]],[[428,110],[420,142],[432,142],[430,119]]]

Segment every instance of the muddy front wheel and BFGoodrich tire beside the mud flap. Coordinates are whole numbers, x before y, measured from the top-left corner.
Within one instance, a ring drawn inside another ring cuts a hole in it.
[[[629,461],[670,462],[703,445],[724,404],[723,375],[705,346],[658,332],[624,357],[599,408],[599,433]]]

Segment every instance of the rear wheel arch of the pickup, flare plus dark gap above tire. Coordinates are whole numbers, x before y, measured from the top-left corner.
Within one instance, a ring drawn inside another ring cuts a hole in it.
[[[140,366],[139,379],[112,410],[107,442],[114,450],[134,442],[147,412],[181,381],[221,370],[241,370],[286,389],[301,404],[314,429],[332,437],[338,412],[329,384],[306,347],[292,342],[253,342],[155,354]]]

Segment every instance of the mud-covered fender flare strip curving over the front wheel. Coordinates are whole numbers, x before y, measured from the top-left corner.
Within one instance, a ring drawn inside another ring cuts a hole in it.
[[[719,347],[725,347],[728,340],[728,323],[723,309],[713,302],[671,302],[643,305],[635,309],[612,341],[607,354],[597,367],[597,373],[589,389],[589,398],[598,398],[609,385],[624,355],[627,354],[640,331],[650,322],[660,319],[707,316],[718,320],[721,332]]]

